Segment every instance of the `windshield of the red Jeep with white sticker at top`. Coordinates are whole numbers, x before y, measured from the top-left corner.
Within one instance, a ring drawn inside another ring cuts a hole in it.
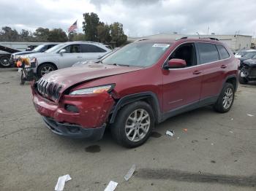
[[[151,66],[159,60],[169,46],[170,44],[151,42],[128,44],[102,60],[102,63],[125,66]]]

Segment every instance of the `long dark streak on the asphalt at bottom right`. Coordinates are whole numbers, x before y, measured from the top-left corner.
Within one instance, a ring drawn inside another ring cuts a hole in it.
[[[140,168],[135,176],[141,179],[172,179],[180,182],[230,184],[238,187],[255,187],[256,184],[256,175],[233,176],[225,174],[204,174],[200,171],[192,173],[167,168]]]

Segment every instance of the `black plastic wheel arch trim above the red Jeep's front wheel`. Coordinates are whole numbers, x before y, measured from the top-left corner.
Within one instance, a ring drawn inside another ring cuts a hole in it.
[[[110,116],[110,123],[115,122],[116,115],[122,107],[134,101],[145,101],[147,104],[149,104],[152,107],[155,121],[157,123],[162,121],[162,115],[160,112],[161,110],[160,110],[157,95],[152,92],[143,92],[143,93],[134,93],[134,94],[126,95],[123,98],[120,98],[117,101],[116,106],[114,107],[113,112]]]

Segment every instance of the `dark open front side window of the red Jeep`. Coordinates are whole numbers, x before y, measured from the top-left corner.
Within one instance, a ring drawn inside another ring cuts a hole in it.
[[[171,55],[170,59],[179,58],[187,63],[187,67],[197,65],[194,43],[182,44]]]

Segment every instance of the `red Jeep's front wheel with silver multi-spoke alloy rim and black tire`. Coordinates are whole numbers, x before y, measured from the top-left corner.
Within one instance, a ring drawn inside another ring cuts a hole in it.
[[[124,147],[138,147],[150,136],[154,128],[154,112],[144,101],[124,106],[111,127],[114,139]]]

